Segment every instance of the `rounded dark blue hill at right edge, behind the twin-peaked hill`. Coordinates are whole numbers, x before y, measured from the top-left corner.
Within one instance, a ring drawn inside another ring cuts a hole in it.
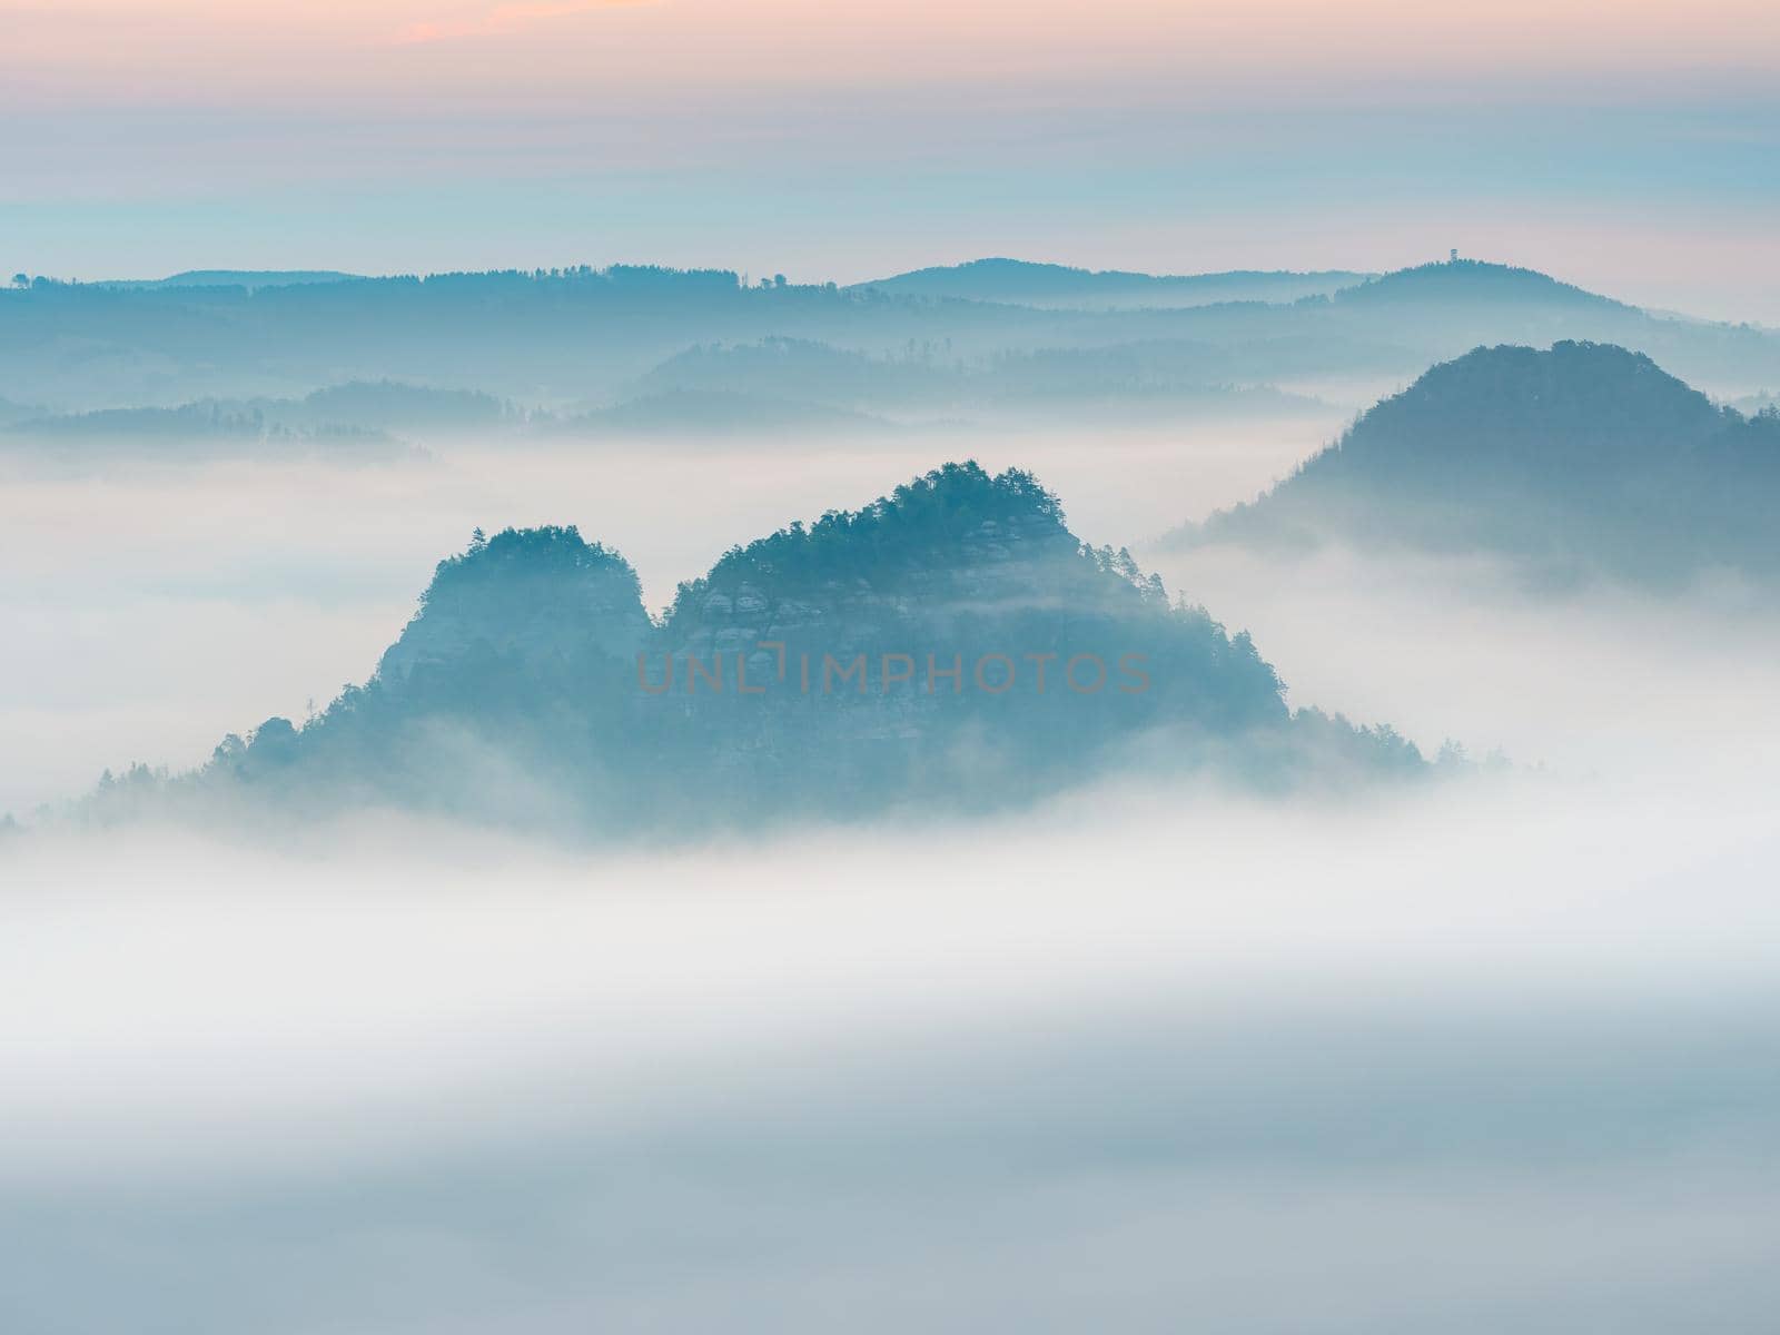
[[[1780,575],[1780,415],[1744,418],[1622,347],[1476,349],[1185,541],[1406,543],[1641,580]]]

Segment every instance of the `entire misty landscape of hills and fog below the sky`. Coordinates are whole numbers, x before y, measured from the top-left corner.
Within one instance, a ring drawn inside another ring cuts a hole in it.
[[[1780,329],[0,290],[0,1328],[1766,1330]]]

